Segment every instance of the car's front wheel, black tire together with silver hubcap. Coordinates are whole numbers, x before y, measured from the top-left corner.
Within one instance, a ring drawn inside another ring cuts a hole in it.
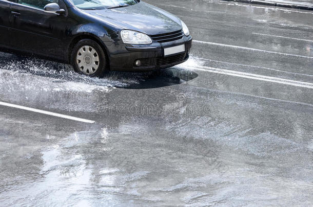
[[[91,39],[82,39],[75,44],[71,64],[75,72],[89,77],[102,77],[109,71],[103,49]]]

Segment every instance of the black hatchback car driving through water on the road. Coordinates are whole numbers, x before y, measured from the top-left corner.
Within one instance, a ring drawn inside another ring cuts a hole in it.
[[[191,41],[183,21],[140,0],[0,0],[2,51],[70,63],[89,76],[180,64]]]

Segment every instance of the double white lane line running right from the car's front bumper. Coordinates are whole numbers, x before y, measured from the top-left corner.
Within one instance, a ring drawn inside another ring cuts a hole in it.
[[[244,72],[238,72],[238,71],[230,71],[230,70],[225,70],[225,69],[216,68],[216,67],[207,67],[207,66],[201,66],[201,67],[202,68],[188,66],[188,68],[191,68],[193,70],[198,70],[198,71],[217,73],[217,74],[223,74],[223,75],[229,75],[229,76],[237,76],[241,78],[262,80],[262,81],[267,81],[267,82],[281,83],[285,85],[292,85],[292,86],[313,89],[313,83],[308,83],[308,82],[301,82],[301,81],[276,78],[276,77],[271,77],[271,76],[263,76],[263,75],[257,75],[257,74],[252,74],[252,73],[244,73]]]

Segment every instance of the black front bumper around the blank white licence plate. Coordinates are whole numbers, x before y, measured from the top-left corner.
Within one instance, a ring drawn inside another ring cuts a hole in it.
[[[182,44],[185,45],[184,52],[164,56],[164,48]],[[188,60],[191,44],[191,35],[171,42],[159,43],[153,41],[149,45],[111,43],[107,45],[110,69],[111,71],[147,72],[171,67]],[[136,60],[141,61],[140,66],[135,65]]]

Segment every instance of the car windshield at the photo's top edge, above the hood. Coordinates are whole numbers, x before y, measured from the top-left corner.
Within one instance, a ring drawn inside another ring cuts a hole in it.
[[[111,7],[123,7],[134,5],[136,0],[70,0],[80,9],[107,9]]]

